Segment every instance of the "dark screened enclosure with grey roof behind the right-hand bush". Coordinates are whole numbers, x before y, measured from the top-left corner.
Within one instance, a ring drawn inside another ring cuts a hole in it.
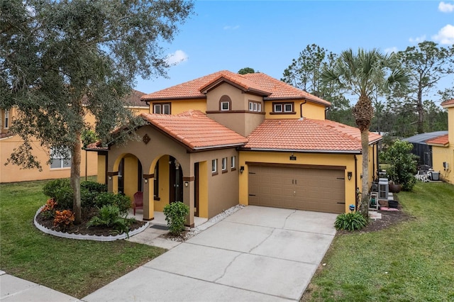
[[[411,145],[413,145],[411,153],[419,157],[418,164],[420,166],[425,165],[426,167],[431,168],[433,166],[432,146],[429,145],[427,141],[433,138],[438,138],[441,135],[448,135],[448,131],[420,133],[409,138],[404,138],[403,140],[411,142]]]

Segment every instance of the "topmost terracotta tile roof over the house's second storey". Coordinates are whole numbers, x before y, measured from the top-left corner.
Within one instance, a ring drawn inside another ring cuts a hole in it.
[[[330,106],[328,101],[313,96],[306,91],[295,88],[286,84],[278,79],[272,78],[267,74],[253,73],[253,74],[236,74],[223,70],[213,74],[193,79],[189,82],[184,82],[160,91],[147,94],[142,97],[143,101],[152,100],[170,100],[170,99],[205,99],[205,91],[214,88],[221,82],[230,82],[243,89],[243,91],[250,91],[251,93],[265,96],[265,99],[308,99],[324,106]]]

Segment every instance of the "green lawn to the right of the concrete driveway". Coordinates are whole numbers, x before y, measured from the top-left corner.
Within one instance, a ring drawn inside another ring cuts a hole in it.
[[[336,235],[303,301],[454,301],[454,186],[399,193],[411,220]]]

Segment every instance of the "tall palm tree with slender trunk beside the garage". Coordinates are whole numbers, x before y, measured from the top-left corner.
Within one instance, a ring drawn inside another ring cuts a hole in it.
[[[379,50],[359,49],[344,50],[331,68],[323,69],[321,79],[324,83],[336,82],[350,93],[359,96],[358,103],[353,107],[353,116],[361,132],[362,147],[362,198],[360,212],[367,217],[369,192],[369,128],[374,109],[372,93],[381,94],[390,86],[407,86],[409,75],[404,72],[395,57],[383,55]]]

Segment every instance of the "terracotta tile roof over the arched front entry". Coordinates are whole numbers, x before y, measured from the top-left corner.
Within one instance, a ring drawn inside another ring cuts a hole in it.
[[[247,142],[243,135],[208,118],[201,111],[191,110],[176,116],[152,113],[140,116],[192,150],[240,146]]]

